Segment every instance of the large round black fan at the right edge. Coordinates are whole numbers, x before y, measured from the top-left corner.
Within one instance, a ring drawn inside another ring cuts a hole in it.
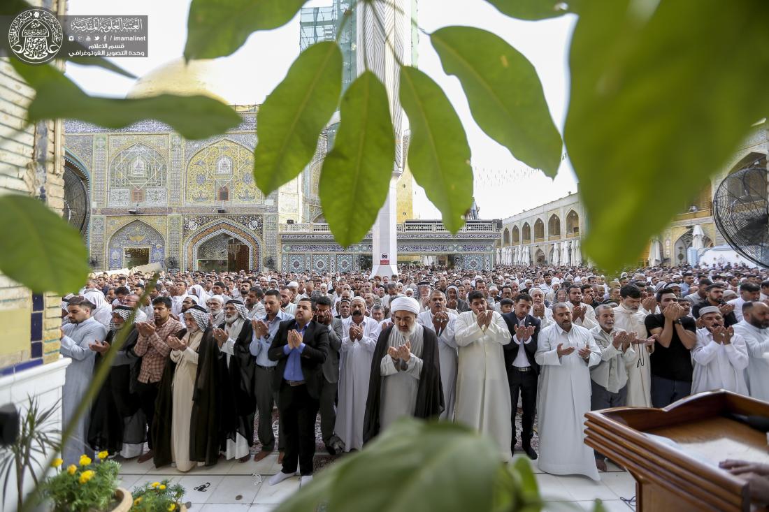
[[[718,231],[734,251],[769,267],[767,170],[749,167],[728,175],[713,198]]]

